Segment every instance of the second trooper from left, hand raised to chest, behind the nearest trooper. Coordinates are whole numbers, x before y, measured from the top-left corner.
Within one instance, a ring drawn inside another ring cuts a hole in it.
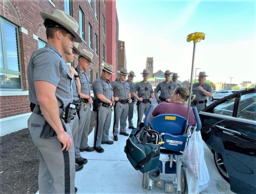
[[[81,55],[81,53],[77,47],[78,47],[78,43],[75,43],[75,46],[73,46],[72,54],[71,55],[67,55],[67,54],[63,55],[63,58],[67,63],[73,63],[74,59],[76,58],[76,55]],[[75,69],[69,65],[67,67],[69,68],[71,75],[75,78],[75,79],[73,78],[72,86],[73,86],[73,103],[75,105],[76,114],[75,114],[75,118],[73,120],[71,120],[71,122],[69,123],[69,126],[70,126],[72,136],[73,136],[73,143],[74,143],[74,148],[75,148],[75,162],[77,163],[77,165],[75,165],[75,171],[77,172],[77,171],[82,170],[83,165],[88,162],[87,159],[81,157],[81,154],[79,151],[79,146],[78,146],[78,148],[76,148],[77,144],[78,144],[77,140],[79,138],[78,137],[78,124],[79,124],[78,114],[81,109],[81,100],[80,100],[81,84],[80,84],[78,73],[75,71]],[[79,143],[79,145],[80,145],[80,143]]]

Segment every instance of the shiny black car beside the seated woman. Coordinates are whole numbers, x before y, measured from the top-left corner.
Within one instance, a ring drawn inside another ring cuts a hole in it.
[[[199,116],[202,139],[235,193],[256,193],[256,88],[207,106]]]

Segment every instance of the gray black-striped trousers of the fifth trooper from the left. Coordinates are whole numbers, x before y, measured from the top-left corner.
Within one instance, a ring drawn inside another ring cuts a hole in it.
[[[118,135],[118,124],[120,120],[120,132],[126,132],[126,120],[128,117],[129,105],[131,103],[122,104],[117,102],[114,107],[114,124],[113,124],[113,135]]]

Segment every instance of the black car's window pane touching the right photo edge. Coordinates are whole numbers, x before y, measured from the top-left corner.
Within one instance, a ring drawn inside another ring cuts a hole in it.
[[[244,92],[241,95],[238,112],[238,118],[256,120],[256,90],[250,93]]]

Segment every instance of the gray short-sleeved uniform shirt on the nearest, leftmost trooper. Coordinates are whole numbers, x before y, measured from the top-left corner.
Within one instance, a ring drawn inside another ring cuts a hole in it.
[[[44,48],[35,50],[27,65],[29,100],[39,105],[35,94],[34,81],[47,81],[56,86],[58,106],[66,107],[73,101],[72,76],[59,51],[46,43]]]

